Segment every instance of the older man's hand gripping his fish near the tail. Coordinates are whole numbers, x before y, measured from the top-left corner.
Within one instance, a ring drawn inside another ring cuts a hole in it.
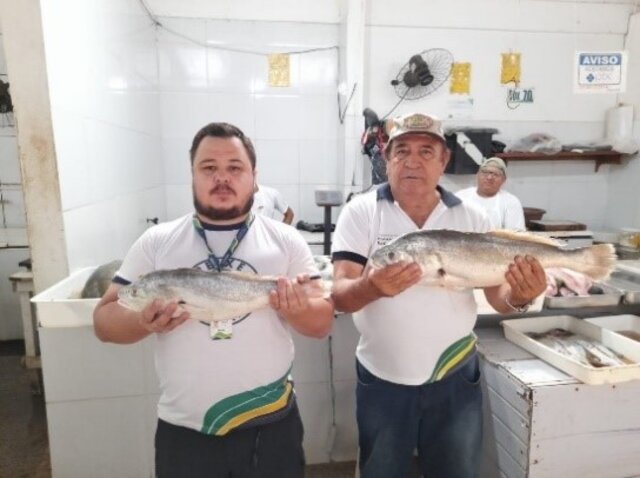
[[[531,303],[547,288],[544,269],[532,256],[516,256],[505,278],[511,286],[509,302],[515,307]]]

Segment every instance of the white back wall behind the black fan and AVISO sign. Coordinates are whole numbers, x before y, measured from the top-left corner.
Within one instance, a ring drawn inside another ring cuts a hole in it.
[[[605,112],[617,97],[574,94],[574,55],[576,50],[622,49],[629,5],[580,4],[578,8],[558,2],[471,5],[460,0],[435,4],[402,0],[393,7],[384,2],[370,6],[366,101],[379,113],[398,100],[389,81],[411,55],[446,48],[455,61],[472,64],[474,103],[468,118],[456,119],[451,108],[455,95],[449,94],[448,83],[422,99],[401,103],[395,114],[424,111],[444,119],[447,127],[495,127],[500,133],[494,139],[508,146],[531,133],[550,134],[565,144],[603,139]],[[469,15],[456,13],[461,6]],[[402,15],[403,8],[410,8],[412,15]],[[522,54],[521,86],[534,88],[535,102],[514,110],[506,106],[506,89],[499,84],[500,53],[508,51]],[[635,168],[603,166],[595,173],[594,166],[593,161],[514,161],[509,164],[505,188],[525,206],[546,209],[547,219],[580,221],[595,230],[628,224],[612,219],[612,214],[633,198],[611,190],[619,191],[621,178],[633,176]],[[442,183],[457,190],[474,184],[474,177],[447,176]],[[608,204],[609,200],[615,204]],[[628,216],[627,220],[634,220],[632,214]]]

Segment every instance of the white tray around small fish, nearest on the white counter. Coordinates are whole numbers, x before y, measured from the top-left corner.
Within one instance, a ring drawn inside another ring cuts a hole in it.
[[[596,324],[585,322],[570,315],[557,315],[504,320],[502,321],[502,326],[507,340],[584,383],[597,385],[626,382],[640,378],[640,342],[620,336]],[[526,335],[527,332],[541,333],[555,328],[562,328],[596,340],[635,363],[615,367],[591,367],[562,355]]]

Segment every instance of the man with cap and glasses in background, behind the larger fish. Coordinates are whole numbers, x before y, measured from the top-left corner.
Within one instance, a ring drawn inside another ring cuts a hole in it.
[[[507,180],[507,165],[500,158],[485,160],[476,174],[477,187],[458,191],[463,201],[477,204],[487,212],[491,229],[524,231],[524,211],[520,200],[502,190]]]

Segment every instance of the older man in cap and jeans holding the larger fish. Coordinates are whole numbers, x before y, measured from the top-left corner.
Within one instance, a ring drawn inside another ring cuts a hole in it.
[[[424,114],[388,120],[389,182],[345,205],[333,235],[337,310],[360,332],[356,399],[363,478],[407,476],[418,450],[424,476],[476,476],[482,396],[472,290],[418,286],[416,263],[367,267],[373,252],[422,229],[485,232],[479,209],[438,185],[449,161],[440,121]],[[470,265],[472,267],[472,265]],[[544,292],[544,271],[516,257],[505,284],[485,289],[501,313]]]

